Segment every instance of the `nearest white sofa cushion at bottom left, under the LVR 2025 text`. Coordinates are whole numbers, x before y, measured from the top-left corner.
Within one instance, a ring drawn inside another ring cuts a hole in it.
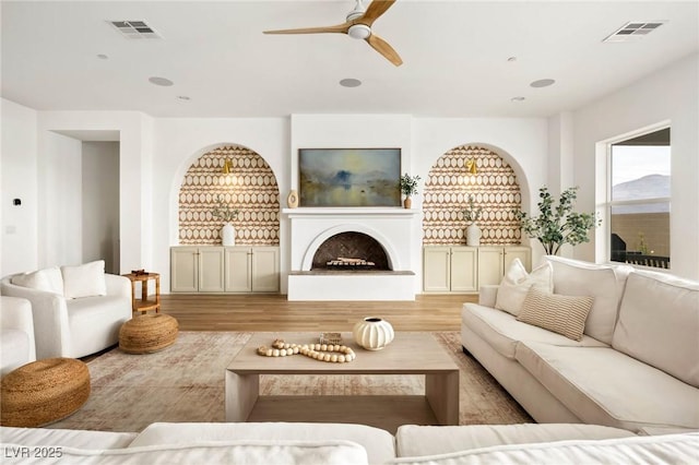
[[[208,441],[188,444],[150,445],[143,448],[88,450],[60,448],[60,457],[47,460],[21,455],[20,444],[2,444],[3,464],[366,464],[367,453],[350,441]],[[31,451],[29,451],[31,452]],[[36,454],[40,455],[40,454]]]

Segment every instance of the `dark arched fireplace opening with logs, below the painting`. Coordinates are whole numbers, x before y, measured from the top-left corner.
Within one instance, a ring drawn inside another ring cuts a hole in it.
[[[329,237],[313,254],[311,270],[391,270],[383,247],[369,235],[344,231]]]

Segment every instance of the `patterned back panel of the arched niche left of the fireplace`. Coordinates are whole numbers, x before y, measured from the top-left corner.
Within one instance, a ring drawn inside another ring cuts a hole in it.
[[[230,160],[230,172],[223,167]],[[179,243],[221,245],[221,219],[212,211],[217,199],[238,208],[233,222],[236,245],[279,246],[280,189],[268,163],[239,145],[206,152],[189,167],[179,189]]]

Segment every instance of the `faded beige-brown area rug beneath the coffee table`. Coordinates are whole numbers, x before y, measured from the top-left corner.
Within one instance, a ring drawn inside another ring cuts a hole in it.
[[[433,333],[461,371],[460,424],[520,424],[532,418],[472,357],[458,332]],[[50,428],[141,431],[155,421],[224,421],[224,372],[250,333],[180,332],[165,350],[115,348],[87,362],[87,403]],[[270,341],[274,334],[270,333]],[[423,394],[418,375],[263,375],[262,395]]]

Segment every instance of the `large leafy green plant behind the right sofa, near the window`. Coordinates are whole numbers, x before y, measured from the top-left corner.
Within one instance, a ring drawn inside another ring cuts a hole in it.
[[[530,238],[537,239],[548,255],[556,255],[564,243],[577,246],[589,242],[588,234],[602,220],[594,213],[576,213],[573,206],[578,196],[578,188],[568,188],[560,193],[560,200],[555,205],[548,188],[538,190],[538,216],[517,212],[522,230]]]

